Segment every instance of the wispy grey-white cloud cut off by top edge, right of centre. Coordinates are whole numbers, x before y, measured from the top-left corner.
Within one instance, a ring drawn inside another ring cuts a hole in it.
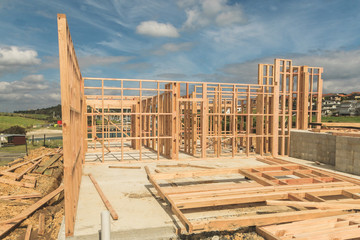
[[[178,6],[184,8],[187,15],[184,29],[244,24],[247,21],[240,4],[228,5],[227,0],[179,0]]]

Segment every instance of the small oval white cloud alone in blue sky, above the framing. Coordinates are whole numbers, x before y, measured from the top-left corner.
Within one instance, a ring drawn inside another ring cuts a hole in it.
[[[159,23],[156,21],[141,22],[136,27],[136,32],[152,37],[179,37],[177,29],[170,23]]]

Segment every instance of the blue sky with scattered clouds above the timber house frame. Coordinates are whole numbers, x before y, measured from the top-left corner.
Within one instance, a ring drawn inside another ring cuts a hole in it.
[[[0,0],[0,111],[60,103],[57,13],[83,76],[255,83],[289,58],[360,91],[357,0]]]

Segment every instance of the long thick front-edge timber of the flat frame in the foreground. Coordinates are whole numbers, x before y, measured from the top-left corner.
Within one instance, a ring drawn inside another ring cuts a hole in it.
[[[304,210],[285,213],[273,213],[255,216],[243,216],[231,219],[217,219],[209,222],[195,222],[193,224],[194,232],[204,231],[232,231],[241,227],[263,226],[269,224],[279,224],[284,222],[300,221],[311,218],[325,216],[335,216],[343,214],[342,210]]]

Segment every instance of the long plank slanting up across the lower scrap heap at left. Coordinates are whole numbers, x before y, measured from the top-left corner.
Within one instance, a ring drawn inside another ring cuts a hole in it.
[[[61,185],[53,192],[49,193],[33,205],[31,205],[29,208],[22,211],[19,215],[0,222],[0,238],[5,235],[7,232],[9,232],[11,229],[13,229],[16,225],[18,225],[20,222],[25,220],[28,216],[30,216],[33,212],[35,212],[37,209],[39,209],[41,206],[43,206],[45,203],[47,203],[50,199],[55,197],[57,194],[62,192],[64,190],[64,186]]]

